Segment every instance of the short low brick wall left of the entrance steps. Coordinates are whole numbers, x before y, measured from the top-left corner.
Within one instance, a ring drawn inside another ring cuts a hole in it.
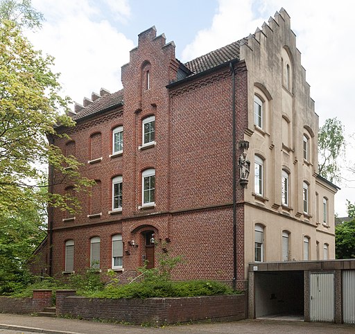
[[[52,304],[52,290],[33,290],[33,298],[0,297],[1,313],[37,313]]]

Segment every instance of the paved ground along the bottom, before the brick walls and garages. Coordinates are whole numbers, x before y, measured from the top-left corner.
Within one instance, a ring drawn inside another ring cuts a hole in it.
[[[0,333],[47,333],[47,334],[139,334],[139,333],[182,333],[182,334],[325,334],[355,333],[355,326],[315,322],[289,322],[280,320],[252,320],[210,324],[183,324],[164,328],[88,322],[85,320],[32,317],[31,315],[9,315],[0,313]]]

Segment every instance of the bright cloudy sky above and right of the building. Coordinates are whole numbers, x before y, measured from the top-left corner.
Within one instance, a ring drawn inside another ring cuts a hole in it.
[[[64,93],[82,104],[101,87],[122,88],[121,66],[137,46],[137,35],[155,26],[176,57],[187,62],[254,33],[284,8],[297,36],[306,80],[320,126],[337,117],[345,126],[347,153],[335,211],[346,216],[355,203],[355,35],[353,0],[33,0],[44,14],[42,29],[28,32],[35,49],[55,58]]]

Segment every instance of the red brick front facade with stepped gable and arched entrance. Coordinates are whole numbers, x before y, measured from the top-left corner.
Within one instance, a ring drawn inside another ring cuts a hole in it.
[[[184,258],[173,272],[174,279],[232,283],[234,109],[236,143],[243,140],[248,125],[247,71],[243,62],[233,66],[234,108],[229,63],[176,82],[181,64],[175,59],[175,45],[166,44],[164,35],[156,36],[155,28],[139,35],[130,62],[122,67],[124,102],[89,116],[79,112],[74,117],[76,127],[64,129],[70,141],[55,140],[63,152],[83,163],[82,175],[95,179],[98,186],[92,197],[76,194],[82,209],[75,219],[53,209],[53,275],[65,271],[67,240],[74,242],[73,269],[89,267],[93,237],[100,238],[100,267],[105,272],[112,267],[115,234],[122,236],[123,270],[135,270],[148,252],[145,233],[150,231],[156,244],[155,265],[163,250]],[[98,101],[110,98],[103,95]],[[142,121],[148,116],[155,116],[155,143],[140,148]],[[109,157],[112,130],[117,126],[123,126],[123,153]],[[236,157],[240,154],[237,148]],[[142,173],[147,168],[155,169],[155,206],[142,209]],[[112,179],[118,175],[123,179],[122,209],[113,211]],[[53,191],[71,191],[70,184],[55,186]],[[239,185],[236,193],[236,281],[243,288],[243,191]]]

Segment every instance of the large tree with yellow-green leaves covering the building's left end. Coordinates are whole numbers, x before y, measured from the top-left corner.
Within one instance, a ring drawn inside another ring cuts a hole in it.
[[[57,182],[71,184],[77,191],[91,182],[80,177],[80,164],[64,157],[47,137],[58,134],[56,125],[73,126],[69,98],[60,96],[58,74],[51,71],[53,58],[35,51],[12,21],[0,24],[0,212],[25,209],[35,198],[67,208],[68,198],[35,191],[44,184],[46,172],[38,166],[50,164],[60,171]],[[68,137],[69,138],[69,137]],[[70,166],[71,168],[66,168]],[[27,188],[27,191],[24,191]],[[28,189],[33,189],[29,191]],[[71,200],[75,201],[73,197]]]

